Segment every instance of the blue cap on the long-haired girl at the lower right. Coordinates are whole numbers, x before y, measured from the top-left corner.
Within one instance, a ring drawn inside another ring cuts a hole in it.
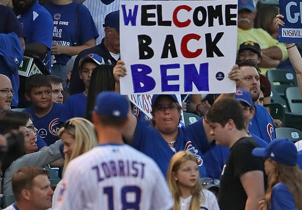
[[[255,148],[252,154],[267,157],[277,163],[295,166],[297,164],[298,152],[295,144],[285,138],[273,139],[265,148]]]

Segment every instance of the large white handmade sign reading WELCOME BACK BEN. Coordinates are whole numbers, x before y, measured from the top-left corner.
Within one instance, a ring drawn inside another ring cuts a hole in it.
[[[237,1],[120,2],[121,94],[235,92]]]

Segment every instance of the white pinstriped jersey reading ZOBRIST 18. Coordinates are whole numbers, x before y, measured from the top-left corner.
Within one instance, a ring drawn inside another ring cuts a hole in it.
[[[55,210],[171,209],[157,164],[126,144],[102,144],[72,160]]]

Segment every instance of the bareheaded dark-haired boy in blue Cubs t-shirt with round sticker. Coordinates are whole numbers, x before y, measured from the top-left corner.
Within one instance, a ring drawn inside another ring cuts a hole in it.
[[[47,146],[58,140],[57,132],[61,128],[59,117],[62,104],[51,102],[50,79],[46,75],[35,74],[25,81],[25,97],[33,105],[23,110],[31,114],[33,123]]]

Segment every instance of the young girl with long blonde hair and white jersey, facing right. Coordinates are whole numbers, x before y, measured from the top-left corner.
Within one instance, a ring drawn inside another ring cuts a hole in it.
[[[167,177],[173,210],[219,210],[216,196],[199,182],[197,158],[193,153],[179,151],[173,155]]]

